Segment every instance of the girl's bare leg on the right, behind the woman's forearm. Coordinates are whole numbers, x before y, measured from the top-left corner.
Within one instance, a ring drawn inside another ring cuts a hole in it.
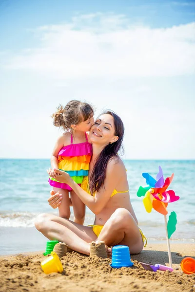
[[[74,222],[82,225],[85,220],[85,204],[74,191],[70,192],[70,197],[73,204]]]

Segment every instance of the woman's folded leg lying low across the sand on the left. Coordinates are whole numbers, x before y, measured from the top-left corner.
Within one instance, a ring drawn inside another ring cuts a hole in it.
[[[65,242],[69,248],[85,255],[90,255],[89,243],[97,239],[91,227],[52,214],[40,214],[35,226],[45,237]]]

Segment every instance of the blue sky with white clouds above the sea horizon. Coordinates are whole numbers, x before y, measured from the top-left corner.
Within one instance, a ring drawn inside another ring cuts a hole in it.
[[[0,158],[49,158],[78,99],[125,159],[195,159],[195,0],[0,0],[0,40]]]

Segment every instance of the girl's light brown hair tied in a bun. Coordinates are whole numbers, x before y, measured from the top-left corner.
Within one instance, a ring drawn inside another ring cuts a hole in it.
[[[94,115],[92,106],[79,100],[71,100],[63,108],[61,105],[53,113],[53,123],[56,127],[63,128],[64,131],[71,129],[71,125],[78,125],[87,121]]]

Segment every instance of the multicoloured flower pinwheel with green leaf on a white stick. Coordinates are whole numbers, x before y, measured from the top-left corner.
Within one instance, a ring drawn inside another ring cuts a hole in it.
[[[179,200],[173,190],[167,191],[167,188],[173,181],[174,174],[171,177],[166,178],[164,181],[162,168],[159,166],[159,171],[156,175],[156,180],[147,172],[142,173],[142,176],[146,179],[146,186],[140,186],[137,191],[138,197],[143,198],[143,204],[148,213],[151,213],[152,208],[154,208],[158,213],[164,215],[166,236],[167,236],[167,246],[170,267],[172,267],[171,249],[169,238],[176,231],[176,213],[171,212],[169,216],[169,221],[167,223],[168,214],[167,205],[168,203],[175,202]]]

